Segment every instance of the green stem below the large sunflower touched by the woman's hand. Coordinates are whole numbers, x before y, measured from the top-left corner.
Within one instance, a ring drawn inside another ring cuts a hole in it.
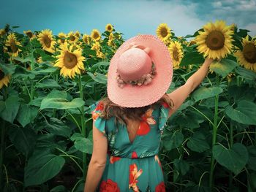
[[[219,86],[219,74],[216,74],[216,85]],[[217,138],[217,128],[218,128],[218,106],[219,106],[219,94],[215,96],[215,104],[214,104],[214,126],[213,126],[213,135],[212,135],[212,145],[211,145],[211,170],[210,170],[210,188],[211,191],[214,191],[214,155],[213,155],[213,147],[216,144]]]

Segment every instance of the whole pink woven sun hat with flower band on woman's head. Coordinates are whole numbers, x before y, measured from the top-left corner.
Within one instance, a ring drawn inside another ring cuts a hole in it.
[[[144,107],[161,99],[173,78],[173,62],[156,36],[128,39],[110,60],[108,98],[121,107]]]

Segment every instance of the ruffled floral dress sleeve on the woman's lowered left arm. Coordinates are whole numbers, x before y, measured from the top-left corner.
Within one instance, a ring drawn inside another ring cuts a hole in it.
[[[104,118],[100,118],[99,115],[102,114],[102,111],[104,109],[104,105],[101,101],[97,101],[96,103],[92,104],[90,106],[91,109],[91,115],[93,119],[94,126],[102,132],[102,134],[107,137],[105,127],[106,127],[106,120]]]

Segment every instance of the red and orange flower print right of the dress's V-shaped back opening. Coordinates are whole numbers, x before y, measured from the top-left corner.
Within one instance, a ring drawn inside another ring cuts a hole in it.
[[[138,128],[137,134],[138,135],[145,135],[148,134],[150,131],[149,125],[156,124],[156,120],[152,117],[152,109],[149,109],[145,112],[145,114],[141,117],[142,120],[140,121],[140,127]]]

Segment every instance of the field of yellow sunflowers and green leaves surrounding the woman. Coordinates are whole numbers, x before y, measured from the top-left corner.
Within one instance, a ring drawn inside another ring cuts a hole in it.
[[[0,30],[1,191],[83,191],[92,153],[89,106],[107,96],[110,59],[124,42],[100,33]],[[256,191],[256,37],[225,21],[156,35],[173,59],[172,92],[210,72],[167,121],[159,148],[166,191]]]

